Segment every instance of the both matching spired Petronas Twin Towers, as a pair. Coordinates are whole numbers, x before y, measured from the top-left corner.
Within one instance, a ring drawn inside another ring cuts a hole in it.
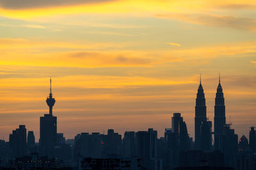
[[[214,149],[220,150],[220,135],[226,124],[225,102],[223,90],[220,83],[216,92],[214,106]],[[212,122],[207,121],[204,89],[201,78],[198,92],[196,94],[195,106],[195,149],[211,150],[212,147]]]

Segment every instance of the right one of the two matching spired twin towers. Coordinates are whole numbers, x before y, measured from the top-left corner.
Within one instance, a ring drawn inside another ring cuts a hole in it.
[[[219,76],[219,85],[216,92],[215,106],[214,106],[214,148],[215,150],[220,150],[220,141],[221,133],[223,127],[226,124],[225,116],[225,99],[223,96],[223,90],[220,84]]]

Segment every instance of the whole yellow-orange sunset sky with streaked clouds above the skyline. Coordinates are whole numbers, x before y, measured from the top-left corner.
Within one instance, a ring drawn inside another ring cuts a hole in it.
[[[179,112],[194,138],[202,74],[207,117],[221,74],[227,122],[256,126],[256,2],[0,0],[0,138],[53,114],[66,139],[147,131]],[[212,128],[213,130],[213,128]]]

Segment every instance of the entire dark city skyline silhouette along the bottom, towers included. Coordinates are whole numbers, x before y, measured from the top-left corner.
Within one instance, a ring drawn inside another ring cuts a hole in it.
[[[213,129],[212,121],[207,118],[200,74],[195,102],[194,137],[189,136],[182,114],[173,113],[170,121],[172,126],[164,129],[164,136],[157,135],[153,128],[148,128],[148,131],[125,131],[124,134],[108,129],[108,134],[104,134],[104,131],[102,134],[83,131],[74,138],[66,139],[65,132],[58,131],[58,120],[53,111],[56,100],[50,78],[49,97],[46,99],[49,113],[40,117],[38,143],[34,132],[29,129],[27,137],[26,125],[20,124],[19,129],[10,134],[9,141],[0,140],[0,168],[254,169],[255,127],[250,127],[249,140],[244,135],[238,138],[232,124],[226,122],[220,74],[218,79]]]

